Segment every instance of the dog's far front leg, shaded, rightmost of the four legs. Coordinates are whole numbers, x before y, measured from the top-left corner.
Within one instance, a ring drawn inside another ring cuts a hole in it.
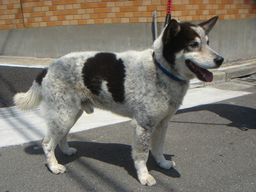
[[[157,164],[164,169],[170,169],[171,167],[175,167],[175,163],[173,161],[165,160],[165,157],[163,155],[165,135],[170,118],[173,114],[174,113],[168,114],[162,121],[160,121],[160,123],[152,133],[150,141],[152,155],[155,158]]]

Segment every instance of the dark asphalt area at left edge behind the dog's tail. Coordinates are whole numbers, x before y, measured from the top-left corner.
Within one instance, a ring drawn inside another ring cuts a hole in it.
[[[14,106],[15,93],[28,91],[40,71],[41,68],[0,66],[0,108]]]

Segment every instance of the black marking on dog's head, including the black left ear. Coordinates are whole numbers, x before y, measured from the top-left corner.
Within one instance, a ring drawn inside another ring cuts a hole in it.
[[[199,37],[191,28],[192,26],[197,25],[189,22],[178,23],[175,19],[171,19],[165,28],[162,37],[163,56],[170,64],[174,64],[176,53],[185,49],[191,41]]]

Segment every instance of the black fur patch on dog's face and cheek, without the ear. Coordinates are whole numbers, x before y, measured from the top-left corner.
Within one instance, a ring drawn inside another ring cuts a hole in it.
[[[174,64],[176,53],[185,49],[191,41],[194,41],[196,37],[199,37],[197,32],[191,28],[191,26],[196,27],[197,25],[189,22],[183,22],[180,23],[179,26],[180,31],[178,34],[171,38],[168,43],[163,42],[163,56],[170,64]]]

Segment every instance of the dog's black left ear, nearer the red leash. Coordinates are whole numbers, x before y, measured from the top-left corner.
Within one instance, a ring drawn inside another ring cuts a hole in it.
[[[171,19],[167,27],[165,28],[165,31],[162,37],[163,42],[165,44],[169,43],[170,40],[174,38],[180,30],[181,30],[180,24],[175,19]]]

